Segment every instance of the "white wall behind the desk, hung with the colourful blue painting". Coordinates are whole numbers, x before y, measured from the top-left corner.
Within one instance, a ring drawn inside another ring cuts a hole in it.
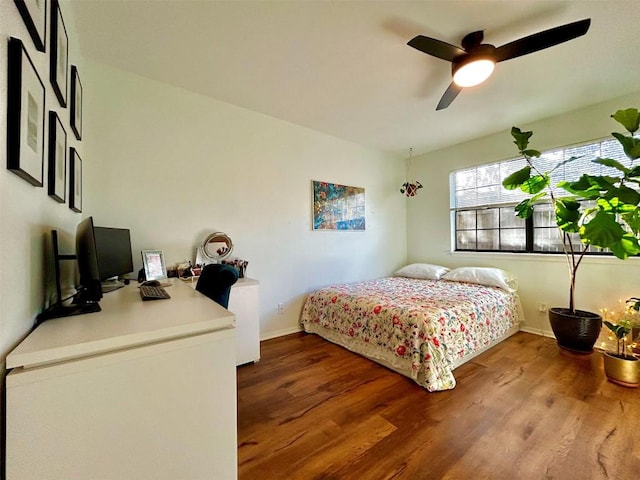
[[[83,86],[84,215],[131,229],[136,269],[141,249],[175,264],[208,233],[227,233],[260,281],[266,338],[298,329],[316,287],[404,263],[398,159],[99,63]],[[312,180],[364,187],[366,231],[312,231]]]

